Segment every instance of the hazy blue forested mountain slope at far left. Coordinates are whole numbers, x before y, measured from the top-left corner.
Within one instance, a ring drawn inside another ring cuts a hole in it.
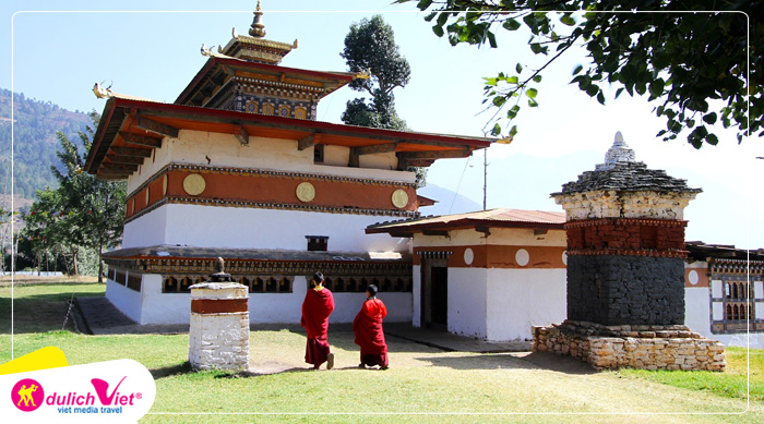
[[[13,125],[11,125],[11,96],[13,96]],[[12,94],[0,88],[0,196],[11,193],[11,126],[13,126],[13,192],[17,197],[32,199],[36,190],[56,187],[58,182],[50,166],[60,167],[56,156],[59,147],[56,132],[77,143],[77,132],[89,124],[86,113],[60,108],[50,101],[28,99],[24,94]],[[82,146],[80,146],[82,148]]]

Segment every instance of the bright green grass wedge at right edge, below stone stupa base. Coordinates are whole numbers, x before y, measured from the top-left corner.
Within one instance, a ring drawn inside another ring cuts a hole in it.
[[[764,350],[727,347],[727,371],[671,372],[646,370],[621,370],[630,378],[656,381],[690,390],[708,391],[715,395],[764,402]],[[750,371],[750,374],[749,374]]]

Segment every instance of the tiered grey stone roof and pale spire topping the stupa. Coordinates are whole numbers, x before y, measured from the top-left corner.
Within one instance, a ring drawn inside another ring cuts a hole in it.
[[[688,187],[685,180],[670,177],[664,170],[648,169],[644,162],[636,161],[634,152],[623,142],[620,132],[616,133],[616,141],[605,155],[604,163],[597,165],[594,171],[582,173],[578,180],[563,184],[562,191],[551,196],[590,191],[702,192],[701,189]]]

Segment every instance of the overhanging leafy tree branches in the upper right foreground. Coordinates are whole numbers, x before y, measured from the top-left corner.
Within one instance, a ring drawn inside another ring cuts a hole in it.
[[[522,95],[529,107],[538,106],[534,86],[541,72],[583,44],[590,62],[574,70],[571,83],[602,105],[602,88],[609,84],[618,86],[616,98],[623,90],[648,95],[656,102],[655,114],[666,119],[666,130],[657,134],[664,141],[689,130],[687,140],[695,148],[715,145],[718,137],[709,125],[716,122],[736,129],[738,143],[764,130],[762,0],[715,2],[719,9],[714,12],[696,0],[421,0],[417,7],[431,9],[426,20],[434,21],[432,31],[447,34],[452,45],[497,47],[497,28],[530,31],[528,48],[549,59],[536,69],[517,63],[509,73],[486,78],[486,100],[508,108],[510,124],[521,110]],[[736,10],[748,14],[731,12]],[[502,132],[499,122],[496,135]],[[512,125],[510,138],[516,132]]]

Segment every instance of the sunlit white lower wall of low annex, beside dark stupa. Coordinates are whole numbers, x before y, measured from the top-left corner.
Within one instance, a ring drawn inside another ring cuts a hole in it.
[[[532,326],[562,323],[568,316],[565,269],[488,269],[487,338],[532,339]]]

